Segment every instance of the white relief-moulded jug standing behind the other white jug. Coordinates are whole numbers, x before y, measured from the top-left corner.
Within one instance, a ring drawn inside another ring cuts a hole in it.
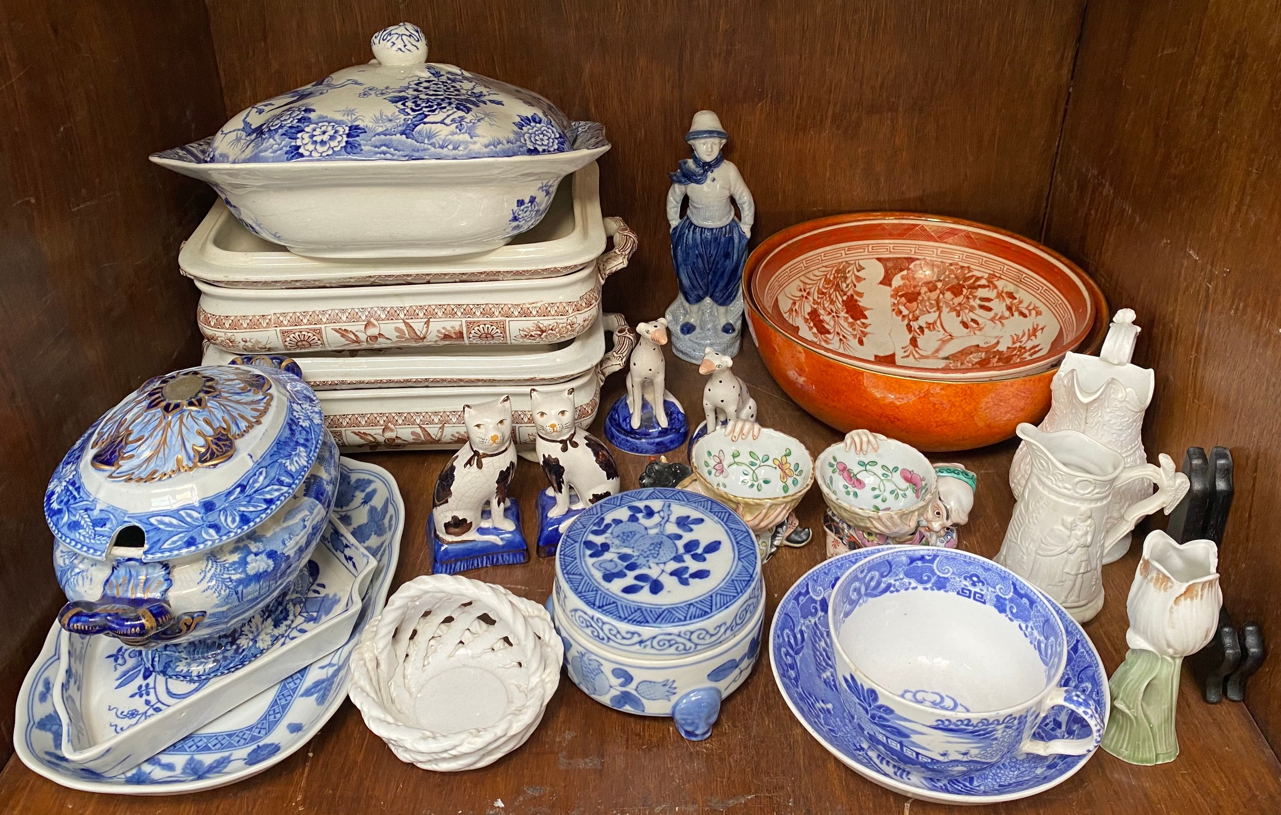
[[[1143,449],[1143,415],[1152,402],[1155,381],[1150,368],[1130,364],[1134,343],[1140,328],[1134,324],[1131,309],[1121,309],[1112,318],[1108,336],[1099,356],[1068,354],[1050,382],[1049,413],[1040,429],[1080,431],[1121,454],[1127,466],[1145,464],[1148,454]],[[1031,456],[1026,445],[1020,445],[1009,465],[1009,488],[1017,496],[1031,473]],[[1152,495],[1144,481],[1132,481],[1118,487],[1108,504],[1106,525],[1111,528],[1136,501]],[[1121,559],[1130,548],[1126,532],[1103,552],[1103,563]]]

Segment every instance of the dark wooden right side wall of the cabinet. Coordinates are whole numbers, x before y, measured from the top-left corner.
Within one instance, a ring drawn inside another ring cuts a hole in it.
[[[1191,445],[1231,447],[1225,604],[1273,641],[1281,633],[1278,41],[1281,18],[1264,3],[1091,4],[1045,224],[1050,246],[1081,261],[1114,308],[1139,315],[1135,361],[1157,372],[1149,457],[1163,451],[1177,463]],[[1132,568],[1134,556],[1122,564]],[[1276,750],[1276,656],[1250,680],[1246,704]]]

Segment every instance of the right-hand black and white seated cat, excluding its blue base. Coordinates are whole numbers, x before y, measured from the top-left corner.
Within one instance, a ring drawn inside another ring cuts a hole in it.
[[[533,404],[534,450],[556,498],[548,518],[560,518],[570,509],[584,509],[619,491],[619,468],[605,445],[574,424],[574,388],[529,391]],[[571,502],[570,492],[578,496]]]

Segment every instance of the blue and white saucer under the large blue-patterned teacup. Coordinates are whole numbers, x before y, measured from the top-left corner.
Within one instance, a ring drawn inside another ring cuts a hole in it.
[[[935,803],[998,803],[1044,792],[1063,783],[1089,761],[1082,756],[1022,753],[962,778],[924,778],[890,764],[863,738],[836,691],[828,601],[831,588],[849,568],[879,548],[853,551],[807,572],[779,601],[770,630],[774,680],[793,715],[810,734],[863,778],[922,801]],[[1107,721],[1111,712],[1108,674],[1094,643],[1080,624],[1056,606],[1067,632],[1067,666],[1059,684],[1094,701]],[[1085,738],[1090,728],[1080,716],[1054,709],[1036,729],[1036,738]]]

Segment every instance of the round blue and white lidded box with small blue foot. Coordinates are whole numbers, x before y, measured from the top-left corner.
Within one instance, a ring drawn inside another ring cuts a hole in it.
[[[706,738],[760,651],[756,537],[706,496],[623,492],[565,532],[548,606],[579,688],[619,710],[670,715],[685,738]]]

